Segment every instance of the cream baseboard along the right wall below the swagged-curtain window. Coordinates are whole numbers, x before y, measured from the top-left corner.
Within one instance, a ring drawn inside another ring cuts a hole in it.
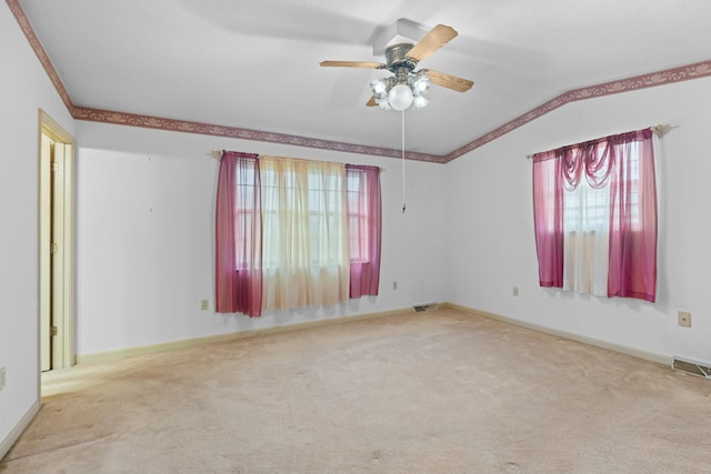
[[[555,335],[555,336],[559,336],[559,337],[569,339],[571,341],[581,342],[581,343],[588,344],[588,345],[594,345],[597,347],[602,347],[602,349],[607,349],[607,350],[610,350],[610,351],[619,352],[619,353],[622,353],[622,354],[632,355],[632,356],[638,357],[638,359],[643,359],[645,361],[654,362],[654,363],[667,365],[667,366],[671,366],[672,365],[672,357],[671,356],[663,355],[663,354],[658,354],[655,352],[642,351],[642,350],[637,349],[637,347],[630,347],[630,346],[627,346],[627,345],[617,344],[617,343],[613,343],[613,342],[603,341],[603,340],[595,339],[595,337],[588,337],[585,335],[575,334],[575,333],[568,332],[568,331],[561,331],[561,330],[557,330],[557,329],[553,329],[553,327],[548,327],[548,326],[543,326],[543,325],[540,325],[540,324],[530,323],[528,321],[517,320],[514,317],[502,316],[500,314],[489,313],[487,311],[474,310],[472,307],[467,307],[467,306],[462,306],[462,305],[454,304],[454,303],[442,303],[442,304],[440,304],[440,307],[449,307],[449,309],[452,309],[452,310],[459,310],[459,311],[462,311],[464,313],[475,314],[478,316],[488,317],[490,320],[501,321],[503,323],[513,324],[513,325],[525,327],[525,329],[529,329],[529,330],[533,330],[533,331],[538,331],[538,332]]]

